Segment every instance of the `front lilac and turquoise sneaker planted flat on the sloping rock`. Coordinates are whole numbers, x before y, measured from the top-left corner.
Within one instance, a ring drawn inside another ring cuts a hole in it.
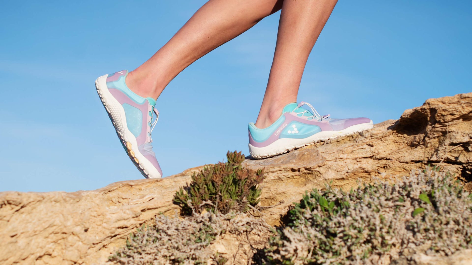
[[[303,105],[309,106],[312,112],[301,108]],[[320,116],[309,103],[290,103],[269,127],[259,129],[254,123],[248,124],[249,152],[253,158],[273,157],[372,127],[369,118],[332,119],[329,115]]]

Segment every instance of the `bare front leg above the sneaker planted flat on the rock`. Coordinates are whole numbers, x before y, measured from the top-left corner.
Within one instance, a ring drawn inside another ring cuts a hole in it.
[[[284,0],[269,82],[255,124],[258,128],[268,127],[285,105],[296,102],[308,56],[336,2]]]

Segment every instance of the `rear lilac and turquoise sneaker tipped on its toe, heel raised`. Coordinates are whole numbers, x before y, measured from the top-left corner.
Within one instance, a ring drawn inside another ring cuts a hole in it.
[[[125,83],[126,75],[127,70],[102,75],[95,81],[95,87],[131,161],[145,178],[160,178],[162,170],[151,145],[151,132],[159,118],[154,108],[156,100],[131,91]]]

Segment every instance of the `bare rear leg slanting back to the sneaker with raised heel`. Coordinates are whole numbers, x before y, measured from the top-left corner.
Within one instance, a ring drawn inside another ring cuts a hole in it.
[[[185,67],[277,12],[283,0],[210,0],[143,65],[126,84],[136,94],[157,99]]]

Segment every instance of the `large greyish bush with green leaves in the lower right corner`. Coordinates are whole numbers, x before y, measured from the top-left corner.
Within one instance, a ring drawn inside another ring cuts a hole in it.
[[[472,248],[472,195],[437,170],[395,185],[312,190],[287,217],[266,249],[272,263],[378,264],[420,246],[428,255]]]

